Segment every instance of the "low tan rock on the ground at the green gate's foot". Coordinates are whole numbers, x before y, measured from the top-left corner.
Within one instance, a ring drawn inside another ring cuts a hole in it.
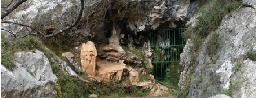
[[[163,96],[169,94],[169,89],[158,83],[155,84],[153,89],[150,90],[150,94],[154,97]]]

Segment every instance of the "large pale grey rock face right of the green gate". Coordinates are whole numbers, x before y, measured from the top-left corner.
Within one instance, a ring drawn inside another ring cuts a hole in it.
[[[243,0],[243,5],[244,8],[226,15],[215,31],[220,35],[220,46],[212,57],[216,61],[206,52],[206,43],[212,35],[203,43],[196,59],[198,63],[194,67],[194,79],[191,80],[188,98],[210,97],[227,90],[232,98],[256,96],[256,61],[246,58],[248,51],[256,51],[256,2]],[[185,65],[185,69],[190,63],[187,57],[181,55],[181,64]],[[181,74],[181,79],[186,77],[186,71]],[[182,87],[181,81],[179,85]]]

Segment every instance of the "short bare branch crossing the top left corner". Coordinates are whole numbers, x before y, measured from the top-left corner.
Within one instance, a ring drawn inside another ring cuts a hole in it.
[[[23,2],[26,2],[27,0],[18,0],[14,5],[7,8],[7,10],[4,11],[4,13],[1,13],[1,19],[4,19],[7,15],[13,12],[14,9],[16,9],[19,5],[21,5]]]

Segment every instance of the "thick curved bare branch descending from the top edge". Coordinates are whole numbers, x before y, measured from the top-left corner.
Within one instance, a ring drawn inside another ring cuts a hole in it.
[[[79,13],[74,21],[74,23],[71,25],[71,26],[67,26],[65,29],[62,29],[62,30],[59,30],[58,32],[55,32],[55,33],[52,33],[52,34],[49,34],[49,35],[44,35],[42,36],[42,38],[50,38],[50,37],[54,37],[56,36],[57,34],[60,34],[60,33],[63,33],[63,32],[66,32],[68,30],[71,30],[74,26],[77,25],[77,23],[80,21],[81,17],[82,17],[82,14],[83,14],[83,10],[84,10],[84,0],[80,0],[81,1],[81,7],[79,9]]]

